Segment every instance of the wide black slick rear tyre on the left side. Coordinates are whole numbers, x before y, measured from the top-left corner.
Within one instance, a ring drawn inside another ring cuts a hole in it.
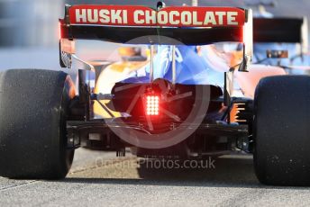
[[[59,71],[16,69],[0,73],[0,175],[60,179],[74,150],[67,149],[71,78]]]

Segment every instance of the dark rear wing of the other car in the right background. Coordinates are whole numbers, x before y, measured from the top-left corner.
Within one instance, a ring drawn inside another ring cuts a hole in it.
[[[308,48],[306,18],[254,18],[253,27],[254,42],[300,43],[303,51]]]

